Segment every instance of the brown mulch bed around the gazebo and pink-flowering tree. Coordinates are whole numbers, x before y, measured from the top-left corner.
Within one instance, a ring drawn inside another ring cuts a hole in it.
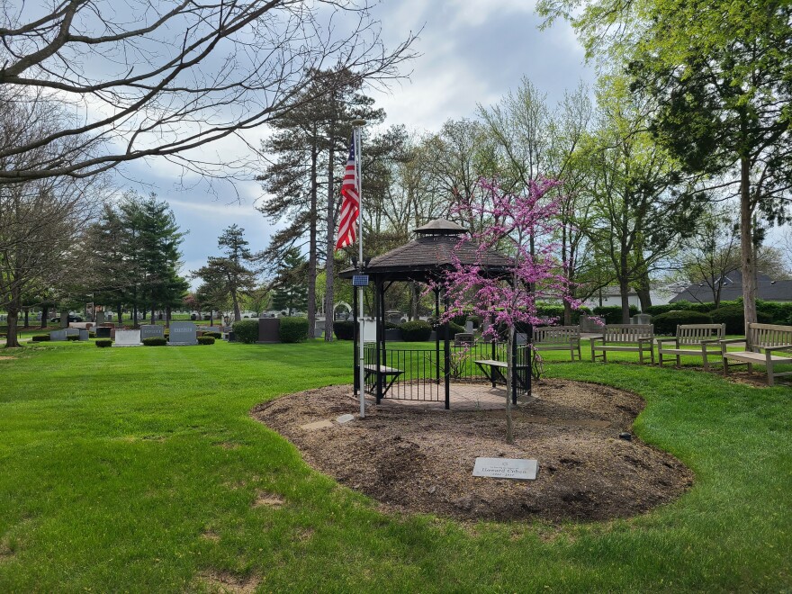
[[[453,406],[453,405],[452,405]],[[677,499],[693,473],[629,431],[643,410],[635,394],[568,380],[535,383],[514,411],[370,406],[357,412],[350,386],[331,386],[257,406],[253,416],[297,446],[308,464],[387,509],[465,520],[626,518]],[[318,421],[331,421],[316,425]],[[305,425],[311,428],[302,428]],[[536,481],[473,477],[477,456],[534,458]]]

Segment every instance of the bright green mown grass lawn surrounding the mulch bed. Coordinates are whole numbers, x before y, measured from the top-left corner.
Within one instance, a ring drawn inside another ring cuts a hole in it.
[[[641,394],[635,432],[696,484],[629,520],[469,526],[385,515],[248,416],[285,393],[350,383],[349,343],[0,355],[17,357],[0,361],[3,592],[200,590],[196,576],[211,572],[256,576],[262,591],[792,588],[788,386],[548,363],[548,375]],[[284,506],[252,507],[257,491]]]

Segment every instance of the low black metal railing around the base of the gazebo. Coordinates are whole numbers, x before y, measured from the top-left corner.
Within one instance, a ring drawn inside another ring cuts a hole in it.
[[[449,346],[448,379],[450,383],[490,383],[475,361],[506,362],[507,344],[476,342],[466,346]],[[377,349],[365,343],[365,392],[376,396],[377,383],[382,383],[382,397],[407,401],[444,401],[446,399],[446,352],[441,344],[428,348],[400,348],[388,344],[382,353],[377,373]],[[515,396],[530,393],[531,350],[518,345],[515,351],[517,374]],[[506,370],[503,370],[505,376]],[[500,382],[502,383],[502,382]]]

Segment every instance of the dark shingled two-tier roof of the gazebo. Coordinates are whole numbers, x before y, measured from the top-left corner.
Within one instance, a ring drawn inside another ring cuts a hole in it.
[[[479,245],[470,238],[460,236],[467,229],[446,219],[436,219],[415,229],[417,238],[391,251],[372,258],[365,266],[365,274],[381,281],[426,282],[437,278],[454,266],[454,255],[464,265],[485,266],[493,276],[505,274],[511,258],[494,250],[479,255]],[[356,268],[340,273],[342,278],[356,275]]]

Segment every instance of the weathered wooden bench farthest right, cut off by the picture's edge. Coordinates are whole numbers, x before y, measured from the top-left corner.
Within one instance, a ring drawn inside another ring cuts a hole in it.
[[[744,342],[748,350],[727,351],[726,348],[735,342]],[[721,356],[724,357],[724,375],[729,374],[729,361],[740,361],[734,365],[748,365],[748,373],[753,373],[753,365],[765,365],[768,373],[768,385],[775,384],[775,378],[792,375],[792,372],[776,374],[773,366],[779,363],[792,364],[792,326],[776,324],[748,324],[748,335],[743,338],[721,340]],[[763,351],[763,352],[762,352]],[[786,351],[780,352],[779,351]],[[775,353],[779,353],[775,355]]]

